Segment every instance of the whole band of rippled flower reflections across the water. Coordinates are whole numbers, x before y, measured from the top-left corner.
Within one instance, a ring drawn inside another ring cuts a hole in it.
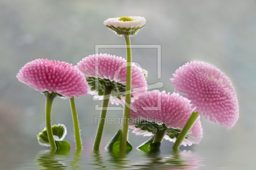
[[[164,152],[164,151],[163,151]],[[201,158],[191,151],[170,151],[164,154],[158,151],[142,152],[133,150],[121,153],[105,152],[39,152],[36,164],[39,169],[197,169],[203,166]],[[38,169],[38,168],[34,168]]]

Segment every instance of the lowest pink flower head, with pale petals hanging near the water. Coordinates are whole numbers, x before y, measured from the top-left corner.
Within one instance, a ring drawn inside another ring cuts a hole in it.
[[[139,126],[136,125],[148,122],[158,126],[164,125],[166,129],[172,128],[176,132],[180,132],[193,111],[189,100],[180,96],[179,93],[173,92],[170,95],[169,92],[166,94],[165,91],[159,92],[158,90],[142,94],[132,103],[132,107],[135,107],[137,112],[131,109],[129,128],[134,129],[132,133],[143,136],[152,136],[153,131],[149,132],[148,130],[139,129]],[[199,144],[201,141],[203,129],[199,118],[188,132],[182,145],[190,146],[192,144]],[[175,142],[176,137],[175,135],[168,134],[164,136],[166,140],[171,142]]]

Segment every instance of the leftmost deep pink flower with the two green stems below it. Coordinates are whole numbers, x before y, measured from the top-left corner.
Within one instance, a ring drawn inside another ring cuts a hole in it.
[[[44,93],[46,98],[45,123],[51,150],[57,149],[51,125],[53,100],[57,97],[68,97],[72,110],[77,149],[82,149],[80,130],[75,106],[75,97],[87,94],[87,82],[84,75],[72,64],[36,59],[27,63],[17,75],[20,82]]]

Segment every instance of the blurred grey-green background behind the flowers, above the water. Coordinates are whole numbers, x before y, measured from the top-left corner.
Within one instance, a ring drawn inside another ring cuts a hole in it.
[[[67,1],[0,0],[0,155],[44,150],[37,134],[45,127],[45,97],[16,78],[26,63],[47,58],[76,65],[95,53],[96,44],[124,44],[124,38],[108,30],[103,21],[122,16],[143,16],[146,26],[132,44],[161,45],[161,79],[157,79],[157,49],[132,49],[132,61],[148,70],[148,84],[163,82],[156,90],[174,92],[172,74],[186,62],[204,61],[231,80],[239,103],[239,119],[228,131],[201,118],[203,139],[185,149],[198,153],[227,151],[227,157],[256,150],[256,2],[212,1]],[[100,48],[100,53],[126,57],[125,48]],[[100,115],[91,95],[76,98],[81,137],[92,148]],[[113,106],[110,104],[110,106]],[[107,118],[122,117],[108,111]],[[52,125],[68,129],[66,140],[75,147],[69,100],[56,98]],[[106,125],[101,149],[121,125]],[[148,137],[129,133],[136,147]],[[164,140],[162,149],[172,143]],[[28,149],[29,148],[29,149]],[[184,149],[184,148],[183,148]],[[254,152],[255,153],[255,152]],[[254,156],[255,157],[255,156]],[[232,162],[230,164],[239,164]]]

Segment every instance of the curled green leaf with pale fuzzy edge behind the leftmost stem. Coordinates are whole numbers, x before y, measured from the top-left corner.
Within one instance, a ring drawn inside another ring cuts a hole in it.
[[[52,134],[55,141],[62,141],[67,134],[67,128],[64,124],[53,125]],[[46,128],[37,135],[37,141],[40,145],[50,146]]]

